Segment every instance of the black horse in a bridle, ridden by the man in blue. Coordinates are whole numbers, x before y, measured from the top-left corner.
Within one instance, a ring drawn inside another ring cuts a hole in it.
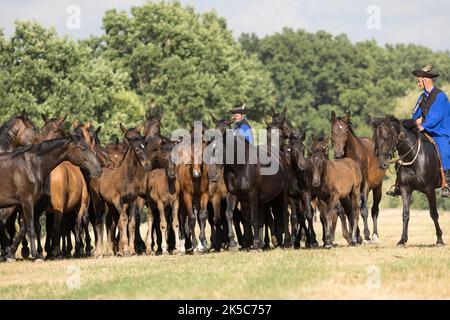
[[[372,121],[374,127],[375,154],[380,168],[386,169],[395,150],[401,164],[397,163],[397,183],[403,201],[403,232],[398,245],[408,241],[408,222],[411,196],[417,190],[426,194],[430,215],[436,228],[437,246],[444,245],[436,208],[435,189],[441,185],[439,159],[434,146],[419,133],[412,120],[400,121],[393,116]],[[400,166],[400,167],[399,167]]]

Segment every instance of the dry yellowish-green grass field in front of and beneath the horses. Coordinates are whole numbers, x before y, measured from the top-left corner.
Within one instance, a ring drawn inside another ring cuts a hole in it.
[[[356,248],[344,245],[338,225],[332,250],[1,263],[0,298],[449,299],[450,214],[440,219],[446,247],[434,246],[428,212],[412,212],[406,248],[396,246],[400,209],[382,210],[379,223],[380,243]],[[67,286],[73,266],[79,289]]]

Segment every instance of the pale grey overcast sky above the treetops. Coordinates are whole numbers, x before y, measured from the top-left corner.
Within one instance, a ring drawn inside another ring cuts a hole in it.
[[[14,31],[14,21],[34,19],[75,38],[102,33],[101,20],[109,8],[129,10],[146,0],[0,0],[0,28]],[[450,50],[448,0],[181,0],[197,11],[216,10],[237,37],[260,36],[283,27],[346,33],[352,41],[375,39],[385,43],[416,43]],[[80,29],[69,29],[71,5],[80,8]],[[374,7],[375,6],[375,7]]]

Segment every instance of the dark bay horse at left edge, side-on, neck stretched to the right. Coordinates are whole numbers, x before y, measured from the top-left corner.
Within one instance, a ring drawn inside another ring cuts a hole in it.
[[[0,208],[20,206],[23,216],[19,236],[8,258],[15,259],[15,251],[25,233],[30,238],[32,258],[42,258],[36,251],[34,207],[44,192],[47,176],[63,161],[84,167],[92,176],[101,173],[95,155],[76,136],[19,148],[0,156],[0,174],[5,183],[0,194]]]

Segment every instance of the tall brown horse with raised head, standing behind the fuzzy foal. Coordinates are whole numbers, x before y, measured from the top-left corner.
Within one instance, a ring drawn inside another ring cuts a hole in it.
[[[381,169],[378,159],[375,156],[375,142],[371,138],[359,138],[353,132],[350,113],[343,118],[336,117],[336,113],[331,113],[331,132],[334,147],[334,157],[340,159],[348,157],[356,161],[363,175],[361,192],[361,216],[364,221],[364,239],[370,241],[370,231],[368,225],[369,211],[367,201],[369,192],[372,190],[372,220],[373,234],[372,241],[378,242],[378,213],[382,195],[383,178],[386,169]]]

